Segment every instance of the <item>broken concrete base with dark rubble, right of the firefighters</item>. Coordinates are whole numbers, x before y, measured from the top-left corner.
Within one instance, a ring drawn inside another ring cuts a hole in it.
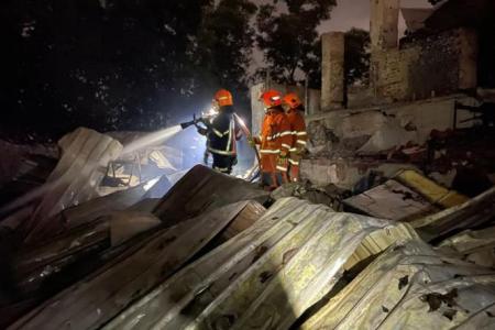
[[[389,178],[400,169],[416,169],[475,197],[495,183],[495,133],[475,112],[488,103],[462,106],[475,110],[461,111],[461,102],[476,100],[450,96],[312,116],[301,177],[363,193],[361,183],[372,173]]]

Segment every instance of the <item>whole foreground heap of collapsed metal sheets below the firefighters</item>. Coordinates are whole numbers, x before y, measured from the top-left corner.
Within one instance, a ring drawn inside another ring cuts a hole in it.
[[[84,129],[59,144],[45,184],[2,209],[2,328],[495,326],[495,188],[403,169],[270,194],[196,166],[102,193],[122,144]]]

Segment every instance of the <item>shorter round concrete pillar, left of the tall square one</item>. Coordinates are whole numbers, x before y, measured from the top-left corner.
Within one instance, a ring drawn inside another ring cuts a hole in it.
[[[342,109],[344,102],[344,55],[343,32],[326,33],[321,37],[321,111]]]

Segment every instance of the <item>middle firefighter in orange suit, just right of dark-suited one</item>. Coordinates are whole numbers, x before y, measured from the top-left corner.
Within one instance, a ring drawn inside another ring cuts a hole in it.
[[[282,95],[276,90],[261,96],[265,117],[260,136],[252,138],[252,145],[260,145],[262,185],[270,190],[288,182],[288,156],[293,140],[290,124],[282,107]]]

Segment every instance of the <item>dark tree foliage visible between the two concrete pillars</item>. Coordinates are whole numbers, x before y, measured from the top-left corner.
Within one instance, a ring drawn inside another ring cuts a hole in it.
[[[367,85],[370,80],[370,32],[351,29],[345,32],[345,82]]]

